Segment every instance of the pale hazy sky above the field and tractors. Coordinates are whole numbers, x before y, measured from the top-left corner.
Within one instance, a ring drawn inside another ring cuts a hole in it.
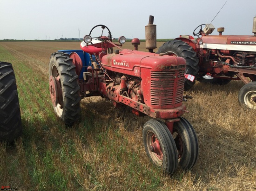
[[[0,0],[0,39],[83,38],[106,25],[114,38],[145,39],[149,15],[157,38],[192,35],[198,25],[222,35],[253,35],[256,0]],[[223,7],[222,7],[223,6]],[[100,36],[100,35],[99,35]]]

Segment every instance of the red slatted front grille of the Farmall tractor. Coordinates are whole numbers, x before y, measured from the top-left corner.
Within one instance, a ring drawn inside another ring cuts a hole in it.
[[[150,97],[152,105],[175,105],[182,102],[184,71],[151,71]]]

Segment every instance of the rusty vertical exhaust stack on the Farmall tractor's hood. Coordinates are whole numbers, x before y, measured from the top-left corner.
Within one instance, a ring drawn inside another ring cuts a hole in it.
[[[156,48],[156,25],[154,23],[154,16],[149,16],[148,25],[145,26],[146,33],[146,49],[149,52],[153,52]]]

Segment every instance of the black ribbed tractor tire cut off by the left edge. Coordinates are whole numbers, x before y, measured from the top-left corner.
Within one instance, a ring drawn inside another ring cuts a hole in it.
[[[13,66],[0,62],[0,140],[12,142],[21,134],[20,104]]]

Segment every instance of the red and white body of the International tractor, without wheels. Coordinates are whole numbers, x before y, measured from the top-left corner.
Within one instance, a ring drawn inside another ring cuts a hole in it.
[[[175,39],[186,42],[197,53],[200,75],[210,73],[216,78],[241,79],[244,83],[248,83],[246,77],[250,77],[255,81],[256,36],[222,35],[223,27],[218,31],[219,35],[201,32],[202,36],[196,40],[189,35]],[[238,78],[233,77],[235,74]]]

